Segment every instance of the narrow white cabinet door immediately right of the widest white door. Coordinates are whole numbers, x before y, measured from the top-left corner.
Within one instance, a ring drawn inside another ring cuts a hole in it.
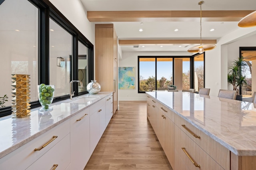
[[[90,155],[100,140],[100,114],[95,111],[90,116]]]

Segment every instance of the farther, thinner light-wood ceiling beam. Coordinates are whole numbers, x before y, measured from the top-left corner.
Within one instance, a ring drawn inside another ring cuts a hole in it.
[[[200,40],[118,40],[119,45],[200,44]],[[216,44],[217,40],[202,40],[202,44]]]

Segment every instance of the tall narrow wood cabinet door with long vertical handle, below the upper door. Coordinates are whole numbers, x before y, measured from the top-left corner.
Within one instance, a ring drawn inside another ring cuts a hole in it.
[[[118,68],[117,68],[117,62],[115,59],[113,59],[113,69],[114,69],[114,93],[113,93],[113,115],[115,114],[116,110],[117,110],[117,105],[118,105],[118,77],[117,77],[117,72],[118,72]]]

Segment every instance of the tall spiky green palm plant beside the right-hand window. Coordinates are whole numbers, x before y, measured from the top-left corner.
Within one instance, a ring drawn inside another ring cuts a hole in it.
[[[228,83],[233,86],[233,90],[236,90],[237,100],[242,101],[242,95],[239,95],[239,87],[242,85],[247,85],[246,75],[242,68],[246,67],[247,63],[245,62],[244,57],[238,57],[238,59],[232,61],[232,64],[228,68]]]

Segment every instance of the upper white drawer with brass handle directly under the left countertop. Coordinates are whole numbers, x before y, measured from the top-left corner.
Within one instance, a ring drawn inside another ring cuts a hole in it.
[[[24,170],[28,168],[33,162],[45,154],[50,148],[52,148],[56,143],[58,143],[62,138],[64,138],[70,132],[70,121],[64,121],[60,125],[48,130],[44,134],[36,137],[30,142],[24,144],[23,146],[17,148],[10,154],[7,154],[0,159],[0,169],[1,170]],[[53,138],[53,136],[58,136]],[[54,140],[53,140],[54,139]],[[34,151],[35,148],[40,148],[44,146],[47,142],[50,142],[44,148],[39,151]]]

